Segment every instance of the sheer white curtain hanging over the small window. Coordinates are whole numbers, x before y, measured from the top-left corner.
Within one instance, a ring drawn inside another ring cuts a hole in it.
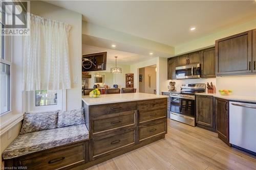
[[[70,26],[30,14],[30,36],[24,36],[23,90],[69,89]]]

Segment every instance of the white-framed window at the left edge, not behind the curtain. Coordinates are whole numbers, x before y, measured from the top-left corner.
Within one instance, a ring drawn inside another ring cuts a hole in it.
[[[0,62],[0,97],[1,97],[1,103],[0,103],[0,108],[1,108],[1,112],[0,114],[6,113],[8,111],[10,111],[10,83],[11,83],[11,62],[10,60],[8,61],[7,59],[11,58],[10,57],[10,53],[6,53],[5,52],[5,48],[6,43],[5,43],[5,39],[4,36],[2,35],[2,29],[4,28],[4,25],[0,22],[1,25],[1,45],[0,45],[0,49],[1,49],[1,62]],[[10,47],[8,47],[9,49],[11,49]]]

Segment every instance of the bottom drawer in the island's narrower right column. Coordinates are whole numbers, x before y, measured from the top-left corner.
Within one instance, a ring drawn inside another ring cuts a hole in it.
[[[166,127],[167,119],[156,123],[139,126],[139,141],[145,140],[158,134],[167,133]]]

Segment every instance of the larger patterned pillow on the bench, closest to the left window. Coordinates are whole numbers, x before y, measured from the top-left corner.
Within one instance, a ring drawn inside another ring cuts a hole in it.
[[[25,134],[34,131],[57,128],[58,110],[25,113],[22,130],[19,134]]]

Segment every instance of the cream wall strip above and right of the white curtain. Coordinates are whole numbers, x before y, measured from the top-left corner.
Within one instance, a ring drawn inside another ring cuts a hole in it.
[[[42,1],[31,1],[31,13],[66,22],[71,26],[69,36],[71,89],[67,90],[67,110],[81,107],[82,15]],[[77,83],[74,83],[77,81]]]

